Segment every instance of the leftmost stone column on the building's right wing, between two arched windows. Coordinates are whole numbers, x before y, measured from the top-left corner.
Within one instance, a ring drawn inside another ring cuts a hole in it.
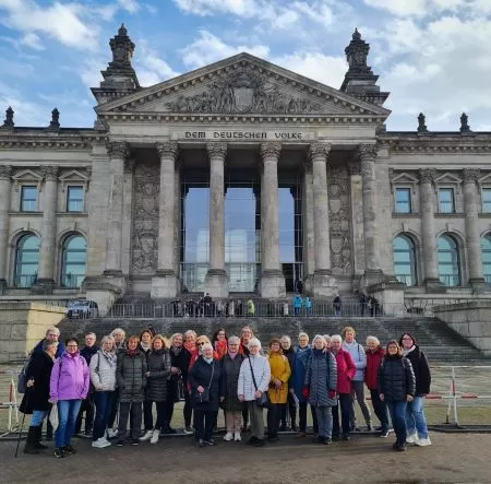
[[[423,284],[428,292],[444,292],[440,282],[436,261],[436,237],[434,231],[434,181],[432,169],[419,170],[419,196],[421,212],[421,238],[423,253]]]

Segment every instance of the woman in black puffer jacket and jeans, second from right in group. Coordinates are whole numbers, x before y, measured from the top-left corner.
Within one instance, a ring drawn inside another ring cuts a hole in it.
[[[379,367],[379,394],[391,413],[396,434],[394,449],[406,450],[406,405],[416,392],[416,379],[411,362],[403,356],[397,341],[387,343],[384,359]]]

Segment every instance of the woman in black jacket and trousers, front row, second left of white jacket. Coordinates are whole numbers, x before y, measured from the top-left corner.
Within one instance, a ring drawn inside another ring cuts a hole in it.
[[[190,369],[188,377],[194,410],[194,436],[197,447],[215,445],[213,425],[223,391],[220,391],[221,364],[213,353],[212,344],[204,343],[201,355]]]

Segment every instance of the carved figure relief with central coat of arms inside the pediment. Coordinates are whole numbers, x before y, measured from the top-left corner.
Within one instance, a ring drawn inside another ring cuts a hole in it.
[[[314,114],[321,104],[282,92],[264,74],[242,68],[213,82],[206,91],[166,103],[173,113]]]

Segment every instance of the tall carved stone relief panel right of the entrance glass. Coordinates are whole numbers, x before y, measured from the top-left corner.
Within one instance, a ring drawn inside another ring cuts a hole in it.
[[[351,275],[351,227],[349,222],[349,173],[346,166],[327,165],[331,269],[333,275]]]

